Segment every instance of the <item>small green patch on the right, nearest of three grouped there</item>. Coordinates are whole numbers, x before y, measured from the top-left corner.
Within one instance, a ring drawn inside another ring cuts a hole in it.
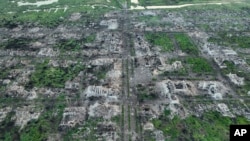
[[[213,68],[212,66],[208,63],[208,61],[205,58],[187,58],[186,60],[187,64],[191,65],[191,70],[192,72],[195,73],[212,73]]]

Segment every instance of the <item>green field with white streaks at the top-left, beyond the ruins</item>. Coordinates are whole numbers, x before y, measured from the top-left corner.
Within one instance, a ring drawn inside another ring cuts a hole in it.
[[[29,0],[28,2],[34,2]],[[0,1],[0,27],[14,28],[25,23],[38,23],[41,26],[55,27],[66,23],[74,12],[84,13],[89,20],[98,19],[105,12],[121,8],[116,0],[59,0],[40,7],[18,6],[17,2]]]

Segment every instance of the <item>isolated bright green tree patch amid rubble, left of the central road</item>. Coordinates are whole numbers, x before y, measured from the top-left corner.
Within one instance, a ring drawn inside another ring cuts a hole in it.
[[[28,87],[54,87],[63,88],[67,80],[73,79],[84,69],[84,66],[76,64],[68,68],[48,66],[49,60],[36,66],[36,71],[31,75]]]

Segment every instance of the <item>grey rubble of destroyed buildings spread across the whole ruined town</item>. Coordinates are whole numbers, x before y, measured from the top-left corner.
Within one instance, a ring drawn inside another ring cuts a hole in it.
[[[132,2],[137,3],[138,0]],[[124,7],[126,5],[120,4]],[[100,6],[108,7],[99,4],[79,6],[96,10]],[[72,6],[65,6],[70,7]],[[40,12],[53,14],[63,9],[55,7]],[[249,36],[250,33],[241,32],[236,28],[249,31],[249,14],[245,9],[241,9],[241,13],[237,10],[226,10],[225,14],[222,14],[222,11],[227,8],[216,12],[209,9],[205,8],[199,12],[193,8],[178,11],[118,10],[103,14],[100,20],[93,19],[93,16],[89,15],[91,11],[82,11],[72,13],[68,19],[60,17],[61,21],[57,22],[59,25],[56,27],[42,26],[39,22],[19,22],[15,28],[0,28],[0,44],[3,46],[8,44],[10,39],[28,39],[27,48],[7,49],[0,46],[0,68],[4,71],[3,75],[0,75],[1,96],[8,99],[24,99],[24,103],[15,104],[18,107],[16,109],[12,106],[7,107],[8,102],[3,102],[0,105],[0,122],[16,113],[11,120],[23,129],[29,121],[38,119],[43,111],[34,104],[45,104],[44,110],[48,110],[57,102],[63,102],[68,107],[64,109],[59,129],[76,127],[79,132],[72,134],[73,140],[86,140],[86,137],[91,136],[99,141],[127,141],[129,138],[139,141],[142,140],[143,134],[150,133],[154,140],[164,141],[169,137],[165,137],[152,123],[153,119],[161,120],[162,116],[170,119],[175,116],[184,119],[189,115],[203,118],[205,112],[216,111],[227,117],[243,115],[250,119],[249,105],[245,103],[244,97],[239,96],[235,99],[238,92],[245,92],[250,96],[250,91],[245,87],[237,87],[236,90],[234,87],[230,88],[231,83],[236,86],[247,85],[247,77],[230,73],[227,74],[231,81],[229,83],[221,76],[221,72],[224,72],[221,68],[226,68],[227,62],[232,62],[243,73],[250,72],[249,64],[246,63],[249,60],[245,60],[249,58],[250,49],[234,48],[236,44],[226,46],[226,40],[221,43],[210,42],[210,37],[219,37],[216,35],[218,31],[235,31],[226,34],[226,37],[233,37],[234,34],[238,34],[236,37],[247,34]],[[27,9],[23,11],[25,12],[39,10]],[[238,21],[231,22],[232,18],[228,17],[238,17],[237,19],[242,20],[241,15],[245,16],[243,18],[246,23],[242,22],[239,26]],[[81,19],[83,21],[79,22]],[[65,20],[67,24],[62,23]],[[122,23],[124,21],[126,23]],[[224,30],[225,26],[228,27]],[[206,32],[207,30],[209,32]],[[161,47],[151,43],[146,38],[148,32],[168,34],[173,41],[173,50],[163,51]],[[216,75],[187,74],[186,71],[184,75],[178,75],[183,73],[184,69],[192,71],[192,66],[184,64],[187,63],[189,53],[182,51],[177,34],[188,34],[188,38],[190,37],[198,49],[198,57],[214,60],[212,63],[219,66],[214,70]],[[73,41],[73,46],[77,44],[75,50],[65,51],[57,48],[61,42],[71,45],[70,41]],[[34,77],[32,74],[37,71],[36,65],[44,59],[49,59],[48,67],[63,69],[65,75],[74,78],[65,80],[62,88],[31,88],[33,85],[29,85],[30,77]],[[176,59],[178,61],[172,61]],[[74,67],[78,63],[86,67],[77,70],[78,74],[71,75],[74,71],[68,71],[66,68]],[[46,101],[47,99],[49,101]],[[223,99],[228,101],[227,104],[221,103]],[[27,106],[28,104],[33,106]],[[124,122],[131,120],[131,130],[128,129],[128,124],[124,124],[124,129],[120,128],[118,120],[121,114],[125,115]],[[58,110],[55,109],[53,115],[59,116]],[[146,131],[142,135],[135,132],[136,127],[133,125],[138,118]],[[61,133],[63,132],[49,133],[47,140],[62,140]]]

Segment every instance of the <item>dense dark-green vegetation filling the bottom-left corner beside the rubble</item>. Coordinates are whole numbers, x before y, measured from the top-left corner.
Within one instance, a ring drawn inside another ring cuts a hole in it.
[[[0,123],[1,141],[43,141],[47,140],[49,134],[56,133],[62,119],[65,107],[65,97],[61,94],[56,99],[46,99],[43,103],[44,110],[37,120],[31,120],[22,129],[15,125],[13,117],[15,112],[8,113],[3,122]],[[39,104],[37,104],[39,105]]]

